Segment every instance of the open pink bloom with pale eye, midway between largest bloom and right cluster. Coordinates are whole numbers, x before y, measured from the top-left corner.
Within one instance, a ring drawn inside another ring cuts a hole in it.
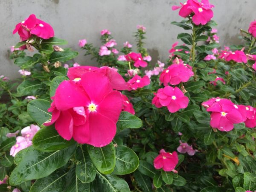
[[[157,90],[152,100],[157,108],[167,107],[170,113],[175,113],[189,105],[189,98],[178,87],[166,86]]]

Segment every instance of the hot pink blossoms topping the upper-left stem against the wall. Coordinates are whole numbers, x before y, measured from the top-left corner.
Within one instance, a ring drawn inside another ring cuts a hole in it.
[[[22,41],[27,40],[31,35],[36,35],[43,39],[54,37],[52,26],[39,20],[34,14],[29,15],[24,21],[18,23],[13,30],[13,34],[18,32]]]

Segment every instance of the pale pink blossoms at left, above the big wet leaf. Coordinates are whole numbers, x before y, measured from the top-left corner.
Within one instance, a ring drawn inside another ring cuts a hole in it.
[[[37,125],[30,125],[23,128],[21,130],[21,136],[16,137],[16,143],[12,146],[10,155],[15,157],[17,152],[32,145],[32,139],[39,131],[39,129],[40,128]],[[6,134],[6,137],[15,137],[18,133],[19,131],[16,131],[15,133],[9,133]]]

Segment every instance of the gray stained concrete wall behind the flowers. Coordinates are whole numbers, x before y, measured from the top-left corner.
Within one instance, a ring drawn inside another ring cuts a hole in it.
[[[185,0],[181,0],[185,2]],[[134,45],[133,32],[137,24],[147,29],[146,47],[153,61],[168,58],[168,50],[182,30],[170,23],[180,21],[178,11],[172,5],[180,0],[0,0],[0,75],[12,79],[19,76],[18,67],[9,60],[9,47],[19,41],[12,35],[15,25],[34,13],[38,18],[52,25],[55,36],[66,39],[79,51],[75,62],[93,65],[95,61],[84,57],[79,49],[79,39],[100,46],[100,31],[109,29],[118,44],[129,41]],[[210,0],[215,5],[214,17],[219,25],[218,35],[222,45],[237,44],[239,29],[248,29],[249,23],[256,19],[256,0]]]

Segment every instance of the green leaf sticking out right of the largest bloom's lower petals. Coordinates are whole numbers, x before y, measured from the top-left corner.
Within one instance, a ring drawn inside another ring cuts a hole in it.
[[[122,111],[118,122],[116,123],[116,127],[120,130],[125,128],[140,128],[142,126],[142,121],[137,116],[128,113],[127,111]]]

